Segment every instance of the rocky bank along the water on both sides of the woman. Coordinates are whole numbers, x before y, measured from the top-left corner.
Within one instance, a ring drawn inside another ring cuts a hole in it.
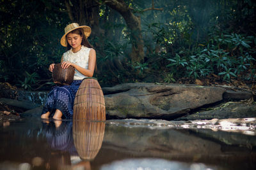
[[[104,87],[102,90],[106,115],[109,119],[173,120],[180,118],[179,120],[195,120],[256,116],[256,106],[253,102],[241,103],[241,100],[252,100],[252,92],[234,87],[124,83],[115,87]],[[24,108],[27,110],[25,113],[40,113],[42,104],[47,99],[47,92],[24,92],[10,89],[1,94],[0,102]],[[235,103],[230,103],[230,101]],[[225,104],[228,102],[229,104]],[[211,108],[209,111],[198,112],[201,108],[209,107]]]

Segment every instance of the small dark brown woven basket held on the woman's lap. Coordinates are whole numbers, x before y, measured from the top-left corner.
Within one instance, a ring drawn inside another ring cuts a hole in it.
[[[75,68],[73,66],[63,69],[61,63],[55,64],[52,70],[52,80],[56,84],[70,85],[74,79]]]

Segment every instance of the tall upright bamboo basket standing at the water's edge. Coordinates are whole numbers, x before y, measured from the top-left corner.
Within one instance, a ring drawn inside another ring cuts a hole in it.
[[[102,89],[96,78],[84,78],[76,92],[74,120],[106,120]]]

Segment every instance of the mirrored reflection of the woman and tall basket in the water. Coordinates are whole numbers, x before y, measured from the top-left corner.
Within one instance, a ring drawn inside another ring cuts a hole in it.
[[[104,138],[104,122],[54,121],[44,124],[52,148],[45,169],[91,169]]]

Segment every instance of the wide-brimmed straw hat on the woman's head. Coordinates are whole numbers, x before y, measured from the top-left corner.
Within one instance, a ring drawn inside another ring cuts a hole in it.
[[[61,45],[67,46],[67,41],[66,41],[67,34],[71,31],[73,31],[75,29],[79,29],[79,28],[84,30],[84,35],[86,36],[86,38],[88,38],[88,36],[90,36],[90,34],[92,32],[90,27],[88,27],[86,25],[79,26],[79,24],[77,24],[77,23],[72,23],[72,24],[67,25],[67,27],[65,27],[65,34],[60,39]]]

